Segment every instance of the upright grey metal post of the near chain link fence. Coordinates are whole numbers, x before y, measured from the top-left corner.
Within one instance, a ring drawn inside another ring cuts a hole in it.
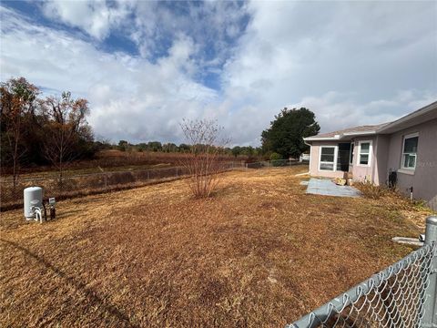
[[[437,216],[426,219],[425,244],[437,243]],[[429,284],[425,290],[422,328],[437,327],[437,254],[432,255]]]

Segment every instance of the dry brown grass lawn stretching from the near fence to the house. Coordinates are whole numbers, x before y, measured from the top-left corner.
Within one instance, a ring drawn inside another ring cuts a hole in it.
[[[427,210],[305,194],[305,168],[64,200],[58,218],[0,220],[0,326],[283,326],[412,251]]]

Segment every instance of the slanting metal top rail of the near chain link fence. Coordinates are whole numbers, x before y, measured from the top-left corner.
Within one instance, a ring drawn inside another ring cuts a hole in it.
[[[340,313],[351,303],[357,302],[361,296],[368,295],[375,288],[379,288],[384,282],[390,279],[393,275],[408,269],[415,262],[426,257],[437,256],[437,242],[431,242],[422,246],[419,250],[412,251],[400,261],[391,264],[386,269],[373,274],[371,278],[361,282],[349,291],[343,292],[337,297],[321,305],[316,310],[301,317],[298,321],[287,324],[287,328],[313,328],[323,323],[334,313]]]

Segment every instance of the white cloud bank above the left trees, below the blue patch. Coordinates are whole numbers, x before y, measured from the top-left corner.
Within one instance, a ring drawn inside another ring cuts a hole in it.
[[[38,86],[71,90],[90,102],[97,135],[133,141],[178,138],[178,121],[202,116],[216,91],[195,82],[187,36],[174,40],[156,64],[106,54],[83,40],[2,9],[2,80],[24,76]],[[5,51],[4,49],[7,49]],[[5,64],[5,65],[4,65]]]

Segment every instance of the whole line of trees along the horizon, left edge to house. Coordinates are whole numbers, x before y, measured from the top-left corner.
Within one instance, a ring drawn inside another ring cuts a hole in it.
[[[160,141],[117,145],[95,141],[86,121],[88,101],[66,91],[60,96],[43,96],[42,91],[24,77],[10,78],[0,84],[1,166],[12,172],[14,185],[20,168],[51,165],[62,183],[67,162],[92,159],[101,149],[121,151],[189,152],[192,145]],[[261,133],[261,147],[223,148],[224,154],[259,159],[299,158],[309,149],[303,138],[315,135],[320,126],[308,108],[284,108]]]

